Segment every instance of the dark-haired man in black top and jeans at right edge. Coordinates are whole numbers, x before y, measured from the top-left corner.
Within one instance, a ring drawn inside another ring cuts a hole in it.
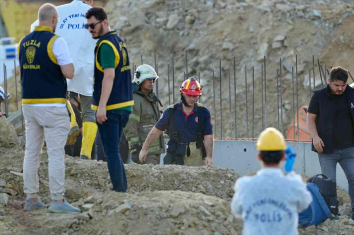
[[[322,174],[336,180],[337,163],[346,174],[354,219],[354,89],[347,80],[347,70],[331,69],[327,87],[314,91],[311,98],[307,127]]]

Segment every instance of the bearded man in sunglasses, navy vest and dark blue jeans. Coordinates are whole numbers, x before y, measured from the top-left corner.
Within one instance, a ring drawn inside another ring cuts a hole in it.
[[[128,186],[118,143],[134,105],[128,52],[116,31],[110,30],[102,7],[92,7],[85,17],[85,28],[98,39],[91,107],[96,111],[113,190],[125,192]]]

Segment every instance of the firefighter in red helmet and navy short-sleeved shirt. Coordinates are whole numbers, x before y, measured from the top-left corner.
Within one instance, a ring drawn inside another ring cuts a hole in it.
[[[182,83],[179,89],[181,102],[167,107],[149,132],[139,154],[141,162],[146,160],[150,144],[169,127],[170,141],[167,143],[164,164],[212,165],[213,126],[210,111],[197,102],[201,90],[199,82],[194,78]]]

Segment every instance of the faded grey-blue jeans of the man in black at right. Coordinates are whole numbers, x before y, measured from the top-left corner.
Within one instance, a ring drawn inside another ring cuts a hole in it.
[[[349,185],[349,196],[354,210],[354,147],[336,149],[331,154],[318,153],[322,174],[336,181],[337,163],[341,165],[346,174]]]

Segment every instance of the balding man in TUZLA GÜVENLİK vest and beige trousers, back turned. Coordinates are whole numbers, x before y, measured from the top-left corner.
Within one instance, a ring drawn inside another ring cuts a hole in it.
[[[18,43],[21,69],[22,109],[26,125],[26,150],[23,161],[23,190],[27,194],[25,211],[46,207],[37,200],[39,191],[39,153],[47,143],[51,212],[79,213],[64,199],[64,145],[70,120],[66,108],[67,83],[74,65],[63,38],[55,35],[58,11],[53,4],[39,8],[39,26]]]

